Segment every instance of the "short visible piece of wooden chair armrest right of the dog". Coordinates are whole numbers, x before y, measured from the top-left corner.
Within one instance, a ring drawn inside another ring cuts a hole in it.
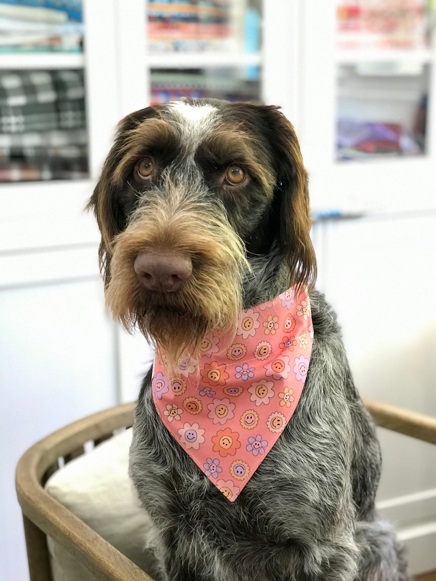
[[[379,401],[363,400],[363,404],[377,426],[436,444],[436,418]]]

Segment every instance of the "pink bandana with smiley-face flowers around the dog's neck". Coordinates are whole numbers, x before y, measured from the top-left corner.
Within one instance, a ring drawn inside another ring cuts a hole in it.
[[[202,342],[199,368],[180,362],[165,375],[155,358],[153,400],[160,419],[211,482],[234,501],[276,443],[301,396],[312,350],[307,290],[286,290],[242,311],[236,336]]]

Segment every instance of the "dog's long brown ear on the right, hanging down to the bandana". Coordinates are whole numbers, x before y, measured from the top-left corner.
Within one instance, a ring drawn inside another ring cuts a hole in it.
[[[316,280],[316,258],[310,240],[308,177],[290,121],[277,107],[265,107],[269,138],[277,181],[274,207],[280,212],[279,243],[285,252],[293,285],[313,288]]]

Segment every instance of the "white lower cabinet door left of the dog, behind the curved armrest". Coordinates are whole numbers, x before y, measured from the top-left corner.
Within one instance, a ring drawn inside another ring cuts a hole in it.
[[[41,437],[116,404],[114,324],[98,272],[87,277],[0,291],[2,579],[28,579],[14,486],[19,457]]]

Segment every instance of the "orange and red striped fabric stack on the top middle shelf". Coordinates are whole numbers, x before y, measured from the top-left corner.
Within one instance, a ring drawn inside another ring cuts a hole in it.
[[[229,0],[148,0],[151,51],[228,48]]]

